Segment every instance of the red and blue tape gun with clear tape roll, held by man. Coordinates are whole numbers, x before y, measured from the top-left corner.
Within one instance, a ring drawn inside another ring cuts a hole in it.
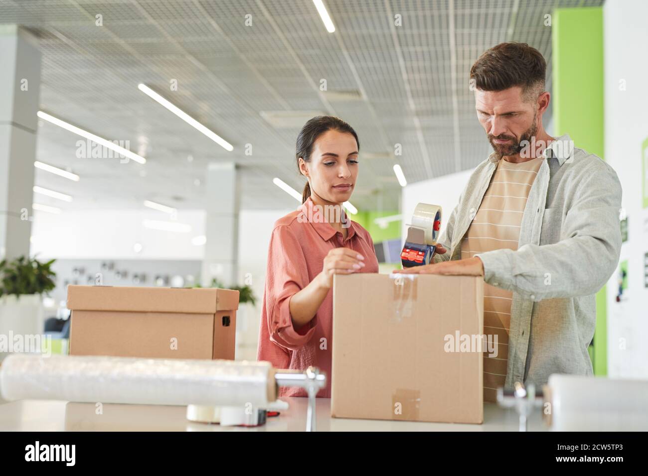
[[[403,267],[430,264],[441,229],[441,207],[419,203],[407,226],[407,238],[400,252]]]

